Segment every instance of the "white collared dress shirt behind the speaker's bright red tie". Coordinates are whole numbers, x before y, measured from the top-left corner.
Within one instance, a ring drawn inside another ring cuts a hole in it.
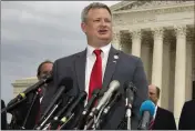
[[[102,82],[103,77],[107,63],[109,52],[111,49],[111,43],[105,47],[100,48],[102,50],[101,58],[102,58]],[[90,85],[90,77],[93,69],[93,64],[95,63],[96,56],[93,52],[95,48],[88,44],[86,47],[86,67],[85,67],[85,92],[89,93],[89,85]]]

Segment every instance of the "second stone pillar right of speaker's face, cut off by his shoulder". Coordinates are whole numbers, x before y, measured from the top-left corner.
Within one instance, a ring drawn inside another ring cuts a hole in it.
[[[131,34],[132,34],[132,54],[141,57],[141,41],[142,41],[141,29],[131,31]]]

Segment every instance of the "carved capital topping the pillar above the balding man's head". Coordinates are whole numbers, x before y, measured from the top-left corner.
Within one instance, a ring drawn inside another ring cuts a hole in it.
[[[154,36],[154,39],[163,39],[164,38],[164,28],[152,28],[152,33]]]

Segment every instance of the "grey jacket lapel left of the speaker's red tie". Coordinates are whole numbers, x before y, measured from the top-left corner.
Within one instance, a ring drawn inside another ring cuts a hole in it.
[[[78,58],[74,62],[76,80],[80,90],[84,90],[85,85],[85,64],[86,64],[86,50],[78,54]]]

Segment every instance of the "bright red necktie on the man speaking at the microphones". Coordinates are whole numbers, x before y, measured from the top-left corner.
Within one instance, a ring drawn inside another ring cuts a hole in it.
[[[94,50],[93,52],[96,56],[96,60],[90,77],[89,100],[91,99],[94,89],[102,88],[102,58],[101,58],[102,51]]]

